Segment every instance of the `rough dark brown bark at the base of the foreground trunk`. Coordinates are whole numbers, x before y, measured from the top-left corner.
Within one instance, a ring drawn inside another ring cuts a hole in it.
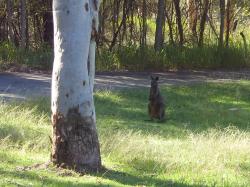
[[[79,108],[69,109],[66,117],[53,114],[52,162],[80,172],[98,171],[100,149],[93,118],[82,117]]]

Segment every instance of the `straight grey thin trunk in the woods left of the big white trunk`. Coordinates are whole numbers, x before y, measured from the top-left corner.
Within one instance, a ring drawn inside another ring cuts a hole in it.
[[[26,26],[27,26],[27,15],[26,15],[26,0],[20,1],[20,31],[21,31],[21,47],[26,48]]]

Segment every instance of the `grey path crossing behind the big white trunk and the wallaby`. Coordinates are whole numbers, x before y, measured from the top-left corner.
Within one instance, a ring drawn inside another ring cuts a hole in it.
[[[185,85],[202,82],[225,82],[250,79],[250,71],[190,71],[153,73],[161,85]],[[97,73],[95,89],[149,87],[151,73]],[[49,96],[51,77],[39,73],[0,73],[0,98],[25,99]]]

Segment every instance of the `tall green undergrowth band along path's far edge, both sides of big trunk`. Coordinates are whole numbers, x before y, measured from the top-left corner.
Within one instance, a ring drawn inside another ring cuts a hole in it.
[[[0,70],[26,65],[33,69],[51,70],[51,47],[20,49],[10,43],[0,43]],[[109,51],[99,48],[96,55],[97,71],[165,71],[169,69],[240,69],[250,67],[250,52],[239,43],[229,48],[216,44],[203,47],[165,45],[161,51],[153,46],[127,45]]]

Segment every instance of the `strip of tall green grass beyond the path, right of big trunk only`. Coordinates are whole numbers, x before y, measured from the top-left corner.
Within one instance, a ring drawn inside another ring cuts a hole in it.
[[[178,47],[165,45],[156,52],[152,46],[120,47],[97,55],[97,70],[162,71],[169,69],[240,69],[250,67],[250,52],[242,45],[218,48],[217,45]]]

